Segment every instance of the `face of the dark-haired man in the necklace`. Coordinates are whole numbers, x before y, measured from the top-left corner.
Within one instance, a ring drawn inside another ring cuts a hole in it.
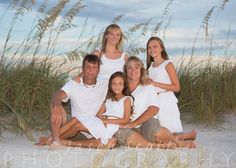
[[[85,61],[85,64],[84,64],[84,67],[83,67],[84,78],[96,79],[98,73],[99,73],[98,63],[94,64],[94,63],[90,63],[88,61]]]

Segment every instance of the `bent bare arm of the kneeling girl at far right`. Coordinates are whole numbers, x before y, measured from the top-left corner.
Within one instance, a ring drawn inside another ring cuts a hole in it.
[[[171,84],[164,84],[164,83],[152,81],[152,85],[168,90],[168,91],[179,92],[180,84],[179,84],[179,79],[178,79],[174,65],[172,63],[169,63],[168,65],[166,65],[166,71],[170,77]]]

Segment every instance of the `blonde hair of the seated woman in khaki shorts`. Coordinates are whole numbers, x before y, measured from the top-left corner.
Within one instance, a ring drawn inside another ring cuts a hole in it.
[[[136,57],[136,56],[128,57],[128,59],[125,62],[125,65],[124,65],[125,75],[127,76],[127,68],[131,62],[137,63],[137,65],[140,67],[140,71],[141,71],[140,84],[143,85],[145,80],[147,79],[147,71],[144,68],[143,62],[138,57]]]

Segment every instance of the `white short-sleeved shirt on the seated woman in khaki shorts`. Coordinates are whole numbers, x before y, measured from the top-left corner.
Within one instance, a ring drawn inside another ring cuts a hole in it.
[[[134,112],[131,116],[132,121],[141,116],[149,106],[159,107],[157,94],[152,85],[138,85],[133,91],[132,96],[134,97]]]

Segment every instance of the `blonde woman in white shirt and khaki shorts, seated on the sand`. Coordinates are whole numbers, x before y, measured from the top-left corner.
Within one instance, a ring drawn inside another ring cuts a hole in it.
[[[134,56],[129,57],[124,72],[135,101],[131,122],[123,125],[116,133],[118,144],[133,147],[195,147],[193,141],[182,141],[178,135],[175,137],[154,118],[159,111],[157,94],[152,85],[144,85],[146,72],[142,61]],[[134,128],[138,129],[139,133]]]

